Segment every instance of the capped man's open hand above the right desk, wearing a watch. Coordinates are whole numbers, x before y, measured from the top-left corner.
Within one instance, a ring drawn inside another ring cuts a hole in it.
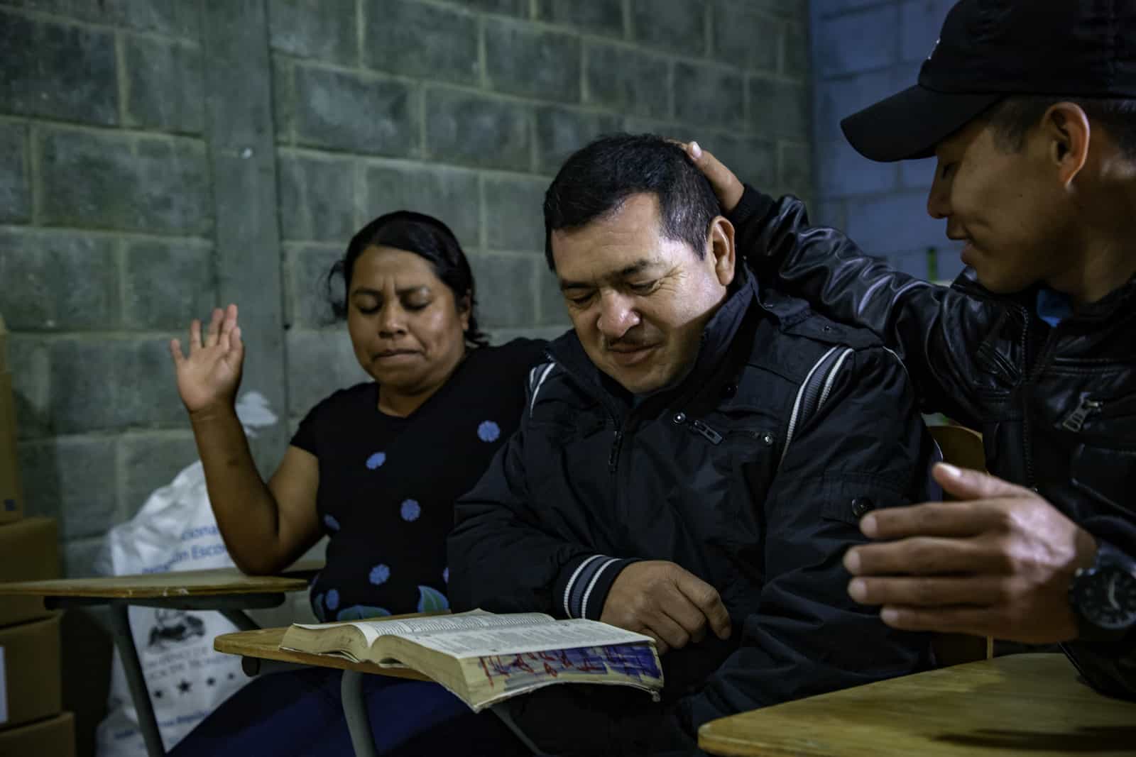
[[[1092,565],[1093,537],[1029,489],[943,463],[934,476],[960,502],[866,515],[860,529],[880,542],[845,554],[852,598],[910,631],[1076,638],[1069,584]]]

